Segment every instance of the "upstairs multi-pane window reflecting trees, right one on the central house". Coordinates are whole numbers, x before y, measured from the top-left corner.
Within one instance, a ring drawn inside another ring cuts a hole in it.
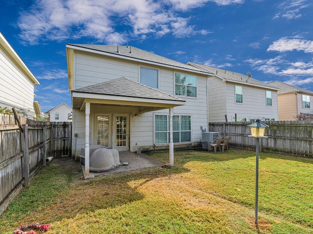
[[[197,97],[197,77],[175,73],[175,95]]]

